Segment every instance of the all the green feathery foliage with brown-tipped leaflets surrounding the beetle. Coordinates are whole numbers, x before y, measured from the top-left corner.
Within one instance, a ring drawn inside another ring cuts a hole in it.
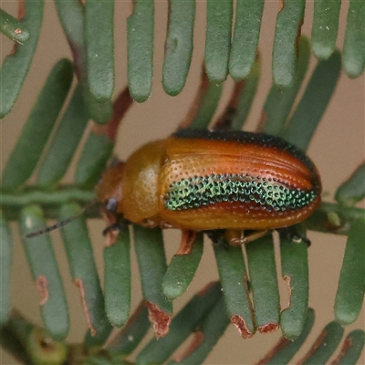
[[[120,364],[127,362],[151,322],[156,336],[163,339],[152,339],[139,349],[134,354],[138,363],[169,360],[202,363],[231,322],[244,338],[253,336],[256,330],[269,332],[280,327],[283,339],[260,363],[287,363],[307,338],[314,322],[314,312],[308,310],[308,247],[304,242],[293,244],[285,237],[280,238],[280,270],[287,277],[290,289],[290,305],[285,310],[280,311],[279,307],[273,238],[267,235],[245,247],[214,246],[220,283],[205,287],[173,317],[172,301],[183,294],[199,266],[203,236],[197,235],[189,255],[173,256],[168,266],[162,230],[133,226],[145,305],[130,317],[130,230],[121,228],[116,243],[104,249],[102,290],[86,224],[87,219],[99,216],[97,206],[61,228],[70,273],[79,288],[89,324],[82,344],[63,342],[70,323],[51,239],[49,235],[26,235],[44,229],[51,218],[67,222],[95,199],[93,189],[110,160],[120,120],[133,99],[141,102],[151,93],[154,2],[136,0],[134,3],[126,30],[129,88],[120,91],[113,101],[113,3],[89,1],[83,5],[78,1],[55,0],[55,4],[74,59],[61,59],[51,70],[3,172],[0,195],[2,345],[24,363],[61,364],[67,360],[70,364]],[[282,2],[273,46],[274,83],[257,130],[281,136],[303,151],[308,148],[335,89],[341,58],[349,76],[363,72],[364,4],[350,1],[341,57],[335,50],[339,1],[316,3],[311,43],[297,36],[305,1]],[[235,18],[233,5],[233,1],[207,1],[205,72],[182,128],[203,129],[212,125],[222,82],[228,74],[237,82],[226,110],[214,121],[214,128],[223,128],[227,123],[237,130],[244,127],[260,76],[256,47],[265,2],[237,0]],[[25,6],[25,17],[20,22],[4,11],[0,13],[4,34],[24,42],[16,47],[15,55],[5,58],[1,68],[2,116],[11,110],[26,78],[42,24],[42,1],[26,1],[20,6]],[[183,89],[193,53],[195,3],[172,0],[169,6],[162,85],[167,93],[177,95]],[[321,31],[326,27],[328,32]],[[19,34],[24,37],[19,38]],[[297,100],[308,70],[310,47],[319,60]],[[71,89],[74,70],[78,85]],[[65,185],[62,178],[89,119],[103,125],[94,124],[89,130],[74,183]],[[39,168],[35,170],[37,165]],[[341,325],[352,323],[360,314],[365,277],[365,213],[355,204],[365,195],[364,171],[361,165],[339,187],[337,203],[322,203],[299,227],[304,232],[311,229],[348,236],[335,303],[337,322],[328,324],[308,351],[304,360],[308,364],[326,363],[342,339]],[[28,185],[29,178],[35,174],[36,183]],[[10,308],[10,221],[17,221],[23,237],[31,274],[42,298],[45,329],[37,328]],[[124,328],[110,337],[113,326]],[[192,346],[183,356],[171,360],[192,333]],[[351,332],[343,342],[339,363],[356,363],[363,346],[364,332]]]

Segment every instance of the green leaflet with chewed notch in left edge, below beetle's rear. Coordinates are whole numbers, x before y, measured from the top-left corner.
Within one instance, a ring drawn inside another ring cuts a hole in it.
[[[287,282],[289,304],[281,312],[280,326],[283,335],[290,340],[302,333],[308,312],[308,245],[280,238],[281,273]]]

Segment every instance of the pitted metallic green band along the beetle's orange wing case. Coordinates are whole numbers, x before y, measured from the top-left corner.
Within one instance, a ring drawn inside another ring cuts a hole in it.
[[[195,176],[172,183],[165,196],[167,209],[185,210],[214,203],[257,203],[266,211],[303,208],[317,196],[314,190],[288,188],[276,179],[238,174]]]

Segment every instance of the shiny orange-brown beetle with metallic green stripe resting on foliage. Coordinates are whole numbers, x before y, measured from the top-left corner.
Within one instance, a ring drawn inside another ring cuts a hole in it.
[[[302,222],[320,203],[318,170],[296,146],[264,133],[179,130],[102,175],[111,226],[224,229],[231,245]],[[244,230],[253,235],[242,237]]]

